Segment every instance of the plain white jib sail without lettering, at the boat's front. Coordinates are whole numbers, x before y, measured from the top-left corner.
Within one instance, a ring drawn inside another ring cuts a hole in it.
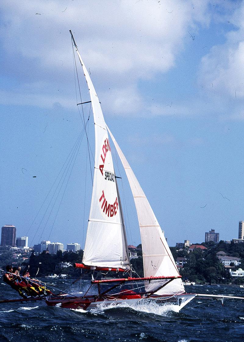
[[[107,127],[118,155],[125,169],[129,185],[134,197],[136,211],[140,226],[142,257],[145,277],[179,276],[176,263],[164,237],[162,229],[145,196],[138,180],[118,143]],[[175,294],[185,292],[180,278],[172,280],[157,292],[157,294]]]

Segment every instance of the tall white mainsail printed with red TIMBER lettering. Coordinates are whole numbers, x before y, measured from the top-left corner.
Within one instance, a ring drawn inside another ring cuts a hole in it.
[[[129,269],[108,132],[98,96],[76,48],[87,81],[95,123],[95,166],[83,263]]]

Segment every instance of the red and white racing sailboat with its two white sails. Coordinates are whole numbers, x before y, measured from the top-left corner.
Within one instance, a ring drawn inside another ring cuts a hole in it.
[[[94,181],[86,243],[82,264],[74,266],[98,272],[115,272],[117,278],[93,278],[86,292],[79,295],[51,295],[46,299],[46,303],[50,306],[83,310],[121,304],[135,308],[160,306],[166,310],[179,312],[197,294],[185,292],[181,275],[162,229],[132,168],[105,123],[99,98],[72,32],[70,33],[88,85],[95,126]],[[132,276],[109,135],[121,159],[135,201],[144,277]],[[118,274],[122,276],[118,277]]]

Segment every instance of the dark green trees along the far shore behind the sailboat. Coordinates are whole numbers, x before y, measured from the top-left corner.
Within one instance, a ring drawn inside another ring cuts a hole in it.
[[[199,244],[200,245],[200,244]],[[244,269],[244,243],[230,244],[220,241],[218,244],[213,242],[202,243],[201,245],[207,249],[196,248],[189,252],[188,247],[178,249],[170,247],[174,260],[177,258],[185,258],[185,264],[179,268],[182,280],[195,282],[196,284],[244,284],[244,279],[234,279],[230,276],[229,270],[235,271],[238,268]],[[217,258],[216,253],[224,251],[228,256],[240,258],[241,264],[238,266],[230,265],[226,268],[222,262]],[[31,276],[45,277],[51,274],[66,274],[71,278],[78,278],[81,276],[81,269],[73,267],[74,263],[81,263],[83,251],[78,252],[61,252],[57,254],[49,254],[46,251],[41,254],[21,254],[16,259],[14,252],[11,250],[0,251],[0,267],[5,269],[7,264],[20,264],[22,271],[29,269]],[[134,270],[134,277],[143,276],[143,260],[141,245],[137,246],[137,258],[131,259],[132,268]],[[115,274],[108,272],[101,274],[101,277],[114,277]],[[117,275],[116,275],[117,276]],[[82,277],[91,278],[91,271],[82,271]]]

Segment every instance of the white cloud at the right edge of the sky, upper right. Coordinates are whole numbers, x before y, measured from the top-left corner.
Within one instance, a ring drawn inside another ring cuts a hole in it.
[[[226,42],[215,45],[201,60],[200,84],[221,96],[244,96],[244,6],[229,15],[229,23],[237,27],[226,34]]]

